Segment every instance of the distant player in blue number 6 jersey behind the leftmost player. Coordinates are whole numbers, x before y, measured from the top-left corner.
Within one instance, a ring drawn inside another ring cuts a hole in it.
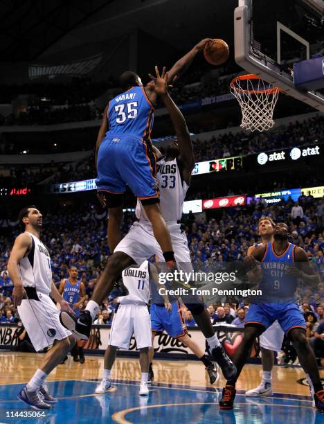
[[[82,281],[78,280],[78,268],[75,266],[69,267],[69,279],[62,279],[59,288],[60,294],[71,306],[76,317],[80,315],[80,306],[88,299],[85,286]],[[74,362],[84,363],[83,343],[78,341],[71,350]]]

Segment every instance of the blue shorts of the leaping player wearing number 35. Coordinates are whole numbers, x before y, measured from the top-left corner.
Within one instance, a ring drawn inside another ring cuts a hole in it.
[[[139,200],[159,198],[156,158],[145,141],[127,134],[106,136],[97,158],[98,191],[120,195],[126,185]]]

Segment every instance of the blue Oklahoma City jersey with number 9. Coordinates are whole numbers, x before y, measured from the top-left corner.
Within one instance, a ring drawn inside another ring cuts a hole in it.
[[[273,242],[267,243],[264,257],[261,261],[262,303],[291,303],[296,301],[297,278],[289,276],[287,271],[294,266],[295,245],[288,243],[286,251],[278,256],[273,249]],[[253,303],[254,300],[253,300]]]

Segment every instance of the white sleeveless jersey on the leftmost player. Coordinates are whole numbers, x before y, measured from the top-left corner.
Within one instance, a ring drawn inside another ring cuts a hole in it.
[[[24,287],[33,287],[37,292],[49,294],[52,285],[50,254],[39,238],[32,233],[28,235],[32,239],[32,246],[28,255],[18,264],[20,279]]]

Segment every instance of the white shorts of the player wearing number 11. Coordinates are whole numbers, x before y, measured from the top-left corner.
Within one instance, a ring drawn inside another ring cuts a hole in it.
[[[111,324],[109,345],[129,348],[134,333],[137,348],[152,346],[150,313],[146,305],[120,303]]]

